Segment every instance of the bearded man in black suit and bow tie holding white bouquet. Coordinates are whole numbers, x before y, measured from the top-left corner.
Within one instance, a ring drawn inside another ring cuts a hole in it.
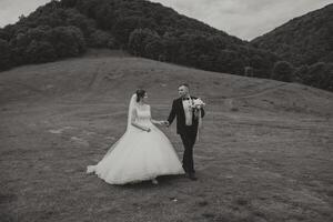
[[[190,95],[190,87],[188,83],[182,83],[178,88],[180,98],[173,100],[172,109],[169,114],[167,127],[169,127],[176,117],[176,133],[180,134],[183,145],[183,169],[191,180],[196,180],[193,167],[193,145],[195,143],[198,133],[198,111],[191,108],[192,100],[195,97]],[[201,109],[201,117],[203,118],[204,110]]]

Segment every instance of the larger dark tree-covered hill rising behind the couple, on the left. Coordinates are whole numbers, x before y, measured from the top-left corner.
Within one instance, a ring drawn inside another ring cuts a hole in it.
[[[77,57],[87,48],[204,70],[269,78],[278,57],[173,9],[144,0],[61,0],[0,30],[0,69]]]

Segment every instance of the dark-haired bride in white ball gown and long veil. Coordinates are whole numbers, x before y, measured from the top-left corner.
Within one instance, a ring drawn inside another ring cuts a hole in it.
[[[163,121],[151,119],[147,98],[144,90],[137,90],[132,95],[125,133],[97,165],[88,167],[87,173],[94,172],[110,184],[144,180],[158,184],[158,175],[184,173],[171,142],[154,125],[163,124]]]

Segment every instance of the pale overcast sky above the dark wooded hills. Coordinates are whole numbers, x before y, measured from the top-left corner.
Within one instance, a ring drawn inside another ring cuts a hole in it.
[[[18,21],[50,0],[0,0],[0,27]],[[244,40],[251,40],[292,18],[333,0],[151,0]]]

